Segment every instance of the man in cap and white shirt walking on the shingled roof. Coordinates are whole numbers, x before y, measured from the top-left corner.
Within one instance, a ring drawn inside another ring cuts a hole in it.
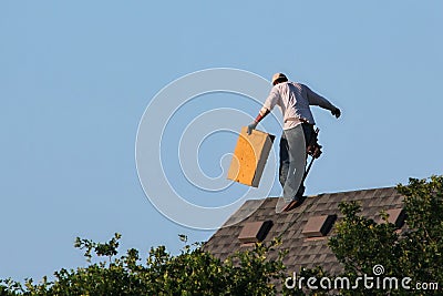
[[[316,124],[310,105],[318,105],[331,111],[337,119],[341,111],[323,96],[311,91],[307,85],[290,82],[284,73],[272,75],[272,89],[256,120],[248,125],[248,134],[257,124],[278,105],[284,116],[284,133],[280,139],[279,181],[284,188],[284,204],[280,211],[297,206],[305,193],[303,175],[307,149],[317,136]]]

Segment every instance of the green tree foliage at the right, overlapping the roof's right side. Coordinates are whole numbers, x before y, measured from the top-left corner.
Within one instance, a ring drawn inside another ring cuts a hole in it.
[[[402,279],[410,277],[412,288],[416,283],[440,283],[443,285],[443,177],[429,180],[411,178],[409,185],[398,185],[404,196],[408,231],[398,232],[393,224],[360,216],[360,206],[342,203],[340,211],[344,218],[336,227],[336,236],[329,246],[344,267],[341,276],[354,280],[363,274],[373,275],[373,266],[384,267],[384,277]],[[351,283],[353,283],[351,280]],[[399,284],[400,285],[400,284]],[[343,295],[387,295],[387,290],[360,289],[342,290]],[[434,292],[441,295],[440,290]],[[432,295],[427,290],[389,290],[389,295]]]

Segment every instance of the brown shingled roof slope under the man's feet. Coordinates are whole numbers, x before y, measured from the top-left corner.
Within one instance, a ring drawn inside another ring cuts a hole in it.
[[[204,248],[224,261],[228,255],[247,247],[248,244],[245,244],[245,237],[248,233],[254,232],[254,228],[259,228],[260,223],[257,222],[268,222],[265,224],[269,232],[265,234],[265,238],[259,237],[259,241],[269,242],[274,237],[281,236],[282,244],[279,248],[289,251],[284,259],[288,271],[298,272],[300,267],[311,268],[322,266],[326,272],[337,275],[342,271],[342,266],[338,263],[327,244],[328,238],[333,235],[333,228],[337,223],[333,222],[336,218],[337,221],[342,218],[342,214],[338,208],[340,202],[358,201],[362,206],[361,214],[373,218],[375,222],[381,221],[380,212],[382,210],[400,210],[403,206],[403,196],[394,187],[308,196],[299,207],[279,214],[276,213],[278,200],[279,197],[268,197],[265,201],[247,201],[229,217],[225,223],[226,226],[219,228],[209,238]],[[238,221],[238,217],[247,208],[257,207],[257,205],[259,207],[250,216],[231,225],[231,222]],[[400,213],[400,211],[390,212],[394,213],[392,217]],[[323,227],[320,225],[327,218],[329,224],[333,223],[330,231],[328,229],[328,225],[323,225]],[[310,225],[307,225],[308,222]],[[320,229],[321,232],[319,232]],[[239,239],[240,234],[241,242]],[[260,235],[262,236],[262,232]],[[277,253],[269,254],[269,258],[272,259],[272,256],[277,257]]]

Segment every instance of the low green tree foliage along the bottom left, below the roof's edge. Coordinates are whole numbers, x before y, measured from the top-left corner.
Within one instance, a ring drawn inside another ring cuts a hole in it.
[[[153,247],[142,264],[134,248],[117,257],[120,238],[120,234],[107,243],[76,238],[87,267],[55,272],[53,282],[28,279],[22,286],[2,280],[0,295],[276,295],[275,284],[284,276],[284,253],[277,261],[267,259],[278,241],[256,244],[226,262],[204,252],[200,244],[186,244],[176,256],[164,246]]]

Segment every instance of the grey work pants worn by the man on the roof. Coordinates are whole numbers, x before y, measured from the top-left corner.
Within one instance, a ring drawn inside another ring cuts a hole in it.
[[[307,153],[306,149],[313,134],[313,126],[302,123],[285,130],[280,139],[279,180],[284,187],[284,200],[290,202],[302,195]]]

